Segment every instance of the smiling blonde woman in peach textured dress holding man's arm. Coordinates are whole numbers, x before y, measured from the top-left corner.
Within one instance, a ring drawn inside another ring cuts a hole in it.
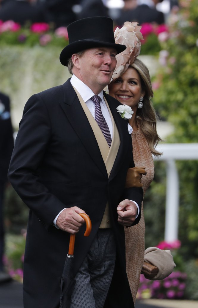
[[[126,51],[125,53],[127,54]],[[119,58],[119,55],[117,57]],[[109,94],[118,99],[120,103],[130,106],[134,111],[132,118],[129,119],[129,124],[133,128],[132,144],[135,168],[130,168],[128,171],[126,187],[137,186],[137,184],[132,185],[132,181],[138,178],[140,179],[138,185],[142,186],[145,194],[154,177],[152,154],[155,156],[161,154],[155,150],[155,146],[161,139],[156,131],[156,115],[151,102],[153,90],[148,68],[139,59],[132,59],[131,62],[128,68],[123,70],[124,73],[122,70],[118,70],[118,75],[114,72],[114,79],[109,84]],[[118,65],[122,69],[123,63],[119,62]],[[144,169],[146,175],[142,177],[142,174],[145,174]],[[134,302],[144,261],[144,234],[142,203],[141,219],[138,225],[125,228],[126,271]]]

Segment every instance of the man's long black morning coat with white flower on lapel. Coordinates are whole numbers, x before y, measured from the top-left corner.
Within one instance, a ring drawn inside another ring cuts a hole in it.
[[[121,144],[108,178],[89,121],[70,79],[31,96],[19,124],[9,168],[9,180],[29,207],[24,258],[24,308],[56,308],[60,278],[68,253],[69,234],[52,225],[65,207],[78,206],[92,221],[76,235],[74,274],[79,269],[100,226],[107,200],[117,245],[116,266],[104,307],[134,306],[126,275],[124,228],[117,206],[128,198],[141,209],[142,188],[124,189],[126,172],[134,166],[127,121],[116,110],[120,104],[104,96],[118,128]],[[134,224],[137,224],[140,215]]]

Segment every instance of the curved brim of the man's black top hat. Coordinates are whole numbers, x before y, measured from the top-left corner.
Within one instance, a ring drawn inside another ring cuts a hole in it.
[[[93,39],[89,40],[80,40],[73,42],[61,51],[60,53],[60,63],[64,66],[68,66],[68,61],[71,58],[71,56],[77,52],[84,51],[89,48],[96,48],[96,47],[112,47],[115,48],[117,51],[117,54],[124,51],[126,49],[125,45],[116,44],[116,43],[107,43],[102,41],[97,41]]]

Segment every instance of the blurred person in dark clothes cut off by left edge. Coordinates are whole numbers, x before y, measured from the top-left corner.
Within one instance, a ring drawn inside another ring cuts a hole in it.
[[[4,219],[3,197],[8,182],[7,172],[14,147],[13,130],[10,119],[10,99],[0,92],[0,282],[10,280],[3,264],[4,254]]]

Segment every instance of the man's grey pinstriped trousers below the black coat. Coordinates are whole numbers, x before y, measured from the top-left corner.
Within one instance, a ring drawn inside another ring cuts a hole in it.
[[[116,245],[111,229],[99,229],[80,266],[70,308],[102,308],[115,266]]]

